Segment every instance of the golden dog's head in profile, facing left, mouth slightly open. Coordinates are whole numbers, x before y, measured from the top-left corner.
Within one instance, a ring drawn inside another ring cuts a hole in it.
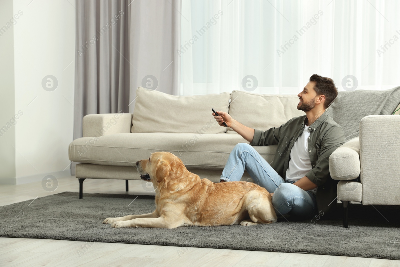
[[[169,152],[151,153],[148,159],[136,162],[140,178],[152,182],[154,188],[167,187],[168,183],[180,183],[188,172],[185,165],[174,154]]]

